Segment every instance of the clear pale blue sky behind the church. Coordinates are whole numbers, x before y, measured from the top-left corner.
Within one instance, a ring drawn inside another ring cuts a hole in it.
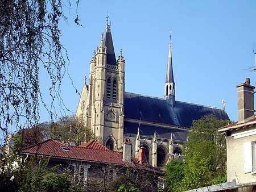
[[[115,55],[125,57],[125,91],[164,97],[169,31],[176,100],[222,107],[237,120],[237,88],[250,77],[255,85],[253,45],[256,42],[256,1],[80,1],[84,27],[61,22],[62,42],[68,50],[69,73],[81,92],[89,61],[105,32],[106,14],[112,22]],[[256,50],[256,48],[255,48]],[[87,78],[87,82],[88,82]],[[42,77],[42,90],[46,77]],[[66,76],[61,86],[65,105],[75,114],[80,95]],[[47,101],[49,105],[50,101]],[[40,110],[40,122],[49,120]]]

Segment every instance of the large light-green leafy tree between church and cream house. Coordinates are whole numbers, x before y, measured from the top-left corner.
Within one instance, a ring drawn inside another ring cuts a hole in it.
[[[213,115],[193,121],[184,143],[183,190],[213,185],[225,179],[226,140],[218,128],[228,123],[229,120],[218,120]]]

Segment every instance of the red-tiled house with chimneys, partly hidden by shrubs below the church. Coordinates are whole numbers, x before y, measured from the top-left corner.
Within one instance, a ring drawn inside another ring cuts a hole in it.
[[[131,143],[125,139],[123,151],[111,151],[92,140],[80,146],[74,143],[64,144],[56,140],[46,140],[22,149],[27,156],[43,156],[49,158],[49,167],[62,165],[61,170],[71,170],[74,180],[91,191],[108,187],[112,181],[126,178],[128,175],[134,183],[140,181],[145,190],[157,191],[160,176],[164,173],[144,162],[144,149],[140,150],[139,160],[131,157]],[[146,178],[150,174],[149,177]],[[136,181],[137,180],[137,181]],[[137,182],[138,183],[138,182]]]

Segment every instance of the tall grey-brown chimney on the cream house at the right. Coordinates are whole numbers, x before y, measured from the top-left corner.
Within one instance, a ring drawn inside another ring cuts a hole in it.
[[[254,88],[250,85],[250,78],[237,85],[238,123],[254,118]]]

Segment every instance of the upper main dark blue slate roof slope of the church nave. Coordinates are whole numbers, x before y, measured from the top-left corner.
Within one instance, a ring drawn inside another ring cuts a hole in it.
[[[176,101],[171,107],[165,99],[125,92],[125,118],[141,119],[191,127],[194,119],[213,114],[217,119],[229,119],[221,108]]]

